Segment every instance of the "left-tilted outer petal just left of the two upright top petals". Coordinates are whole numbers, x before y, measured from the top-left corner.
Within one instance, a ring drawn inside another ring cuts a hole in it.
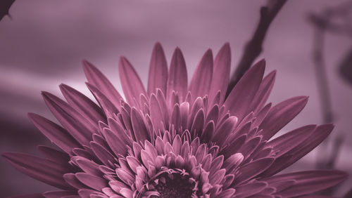
[[[127,103],[132,107],[138,107],[139,104],[137,101],[139,100],[139,95],[141,93],[146,95],[142,81],[139,79],[136,70],[134,70],[131,63],[125,57],[122,56],[120,58],[118,66],[122,90],[125,93]]]

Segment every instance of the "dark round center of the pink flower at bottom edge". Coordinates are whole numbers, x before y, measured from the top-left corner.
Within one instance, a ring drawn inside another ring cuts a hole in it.
[[[153,186],[160,194],[159,197],[192,197],[196,192],[196,182],[180,173],[165,173],[154,180]]]

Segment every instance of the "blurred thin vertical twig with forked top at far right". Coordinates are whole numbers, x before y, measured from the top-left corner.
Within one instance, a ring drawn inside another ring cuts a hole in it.
[[[334,34],[347,34],[352,36],[351,25],[349,22],[346,25],[339,25],[336,22],[332,22],[333,18],[346,18],[348,13],[352,10],[351,2],[336,6],[334,8],[327,8],[321,15],[310,14],[308,20],[314,25],[314,39],[313,39],[313,62],[315,68],[315,76],[317,80],[318,92],[320,95],[320,106],[322,109],[322,119],[324,123],[332,123],[334,121],[334,114],[332,113],[331,94],[329,90],[329,84],[327,81],[326,65],[324,60],[324,44],[325,44],[325,33],[331,32]],[[318,150],[318,169],[334,169],[337,161],[341,145],[343,143],[343,136],[338,136],[332,143],[332,150],[327,150],[326,139],[322,142]],[[328,154],[329,157],[326,157]],[[336,187],[330,187],[326,190],[322,190],[320,194],[331,195],[336,190]]]

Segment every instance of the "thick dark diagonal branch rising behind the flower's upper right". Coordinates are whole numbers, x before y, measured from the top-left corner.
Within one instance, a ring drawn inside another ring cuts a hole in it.
[[[234,88],[244,73],[249,70],[249,67],[251,67],[258,55],[263,51],[263,41],[268,32],[268,28],[285,3],[286,0],[271,0],[268,1],[266,6],[260,8],[260,20],[256,27],[256,31],[244,47],[244,53],[241,60],[230,79],[230,84],[227,88],[227,95],[232,91],[232,88]]]

